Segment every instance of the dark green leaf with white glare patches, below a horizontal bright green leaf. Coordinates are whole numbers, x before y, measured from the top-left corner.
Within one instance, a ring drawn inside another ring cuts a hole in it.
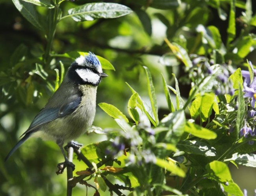
[[[185,153],[189,154],[196,154],[196,155],[204,155],[206,157],[214,157],[216,156],[216,149],[200,141],[180,141],[177,145],[179,150],[184,151]]]

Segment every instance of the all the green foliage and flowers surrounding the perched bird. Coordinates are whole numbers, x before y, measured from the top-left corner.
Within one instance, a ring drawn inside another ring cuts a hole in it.
[[[254,4],[1,1],[0,195],[57,196],[71,186],[73,195],[242,196],[247,177],[235,179],[229,165],[256,167]],[[5,164],[70,63],[89,51],[109,77],[75,150],[74,178],[67,186],[55,175],[63,160],[51,142],[31,139]]]

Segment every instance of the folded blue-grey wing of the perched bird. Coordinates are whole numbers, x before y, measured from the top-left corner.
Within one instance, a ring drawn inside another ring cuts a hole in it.
[[[56,118],[61,118],[63,116],[71,114],[76,110],[78,105],[81,103],[82,98],[78,95],[73,95],[69,97],[69,102],[67,104],[62,104],[59,107],[48,108],[44,107],[41,111],[35,116],[30,127],[22,135],[25,135],[40,126],[55,120]],[[21,135],[21,136],[22,136]]]

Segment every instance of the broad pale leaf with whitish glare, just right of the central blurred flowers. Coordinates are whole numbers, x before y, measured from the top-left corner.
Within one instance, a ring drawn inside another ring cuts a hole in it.
[[[184,110],[178,110],[176,112],[170,113],[165,116],[161,123],[165,127],[169,127],[165,138],[163,138],[167,143],[176,144],[180,141],[182,134],[184,133],[184,128],[186,124],[186,116]]]

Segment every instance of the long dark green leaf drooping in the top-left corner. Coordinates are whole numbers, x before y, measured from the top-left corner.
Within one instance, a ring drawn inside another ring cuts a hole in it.
[[[15,7],[20,11],[22,16],[28,20],[31,24],[33,24],[39,30],[44,30],[39,22],[37,11],[33,4],[28,2],[24,2],[22,0],[12,0]]]

